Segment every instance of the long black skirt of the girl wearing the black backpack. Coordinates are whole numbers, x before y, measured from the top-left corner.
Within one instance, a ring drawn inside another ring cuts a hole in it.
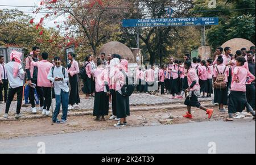
[[[117,118],[125,118],[130,116],[130,100],[129,96],[123,96],[118,91],[116,92],[117,98]]]

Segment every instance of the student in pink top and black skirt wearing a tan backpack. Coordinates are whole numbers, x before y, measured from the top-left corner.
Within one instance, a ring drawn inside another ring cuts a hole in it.
[[[224,74],[225,82],[228,84],[229,69],[226,65],[223,64],[223,62],[224,59],[222,56],[218,56],[218,65],[214,68],[213,71],[213,82],[216,81],[218,74]],[[214,103],[218,103],[220,112],[226,112],[224,105],[228,105],[228,87],[223,90],[214,88]]]

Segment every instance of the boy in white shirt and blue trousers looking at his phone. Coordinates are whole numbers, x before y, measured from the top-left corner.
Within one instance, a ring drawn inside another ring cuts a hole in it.
[[[61,66],[60,57],[54,57],[55,67],[48,74],[48,79],[54,85],[55,96],[56,96],[56,108],[52,116],[52,121],[59,124],[63,124],[67,121],[68,115],[68,70]],[[60,113],[60,105],[62,105],[63,116],[61,120],[57,119]]]

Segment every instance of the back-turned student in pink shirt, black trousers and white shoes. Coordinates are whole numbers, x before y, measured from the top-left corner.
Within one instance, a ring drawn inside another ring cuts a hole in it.
[[[44,107],[42,111],[42,115],[49,116],[51,107],[51,82],[48,80],[48,74],[51,72],[53,64],[48,62],[49,55],[48,53],[42,53],[42,61],[34,62],[32,61],[32,65],[38,67],[38,86],[43,88],[44,91]],[[30,57],[32,58],[32,57]]]

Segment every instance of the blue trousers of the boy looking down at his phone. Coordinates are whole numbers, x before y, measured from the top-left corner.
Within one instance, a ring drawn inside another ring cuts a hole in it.
[[[57,121],[57,116],[60,113],[60,104],[62,105],[62,120],[67,120],[68,116],[68,94],[69,92],[64,92],[61,90],[60,95],[56,95],[56,107],[55,111],[53,112],[52,121]]]

